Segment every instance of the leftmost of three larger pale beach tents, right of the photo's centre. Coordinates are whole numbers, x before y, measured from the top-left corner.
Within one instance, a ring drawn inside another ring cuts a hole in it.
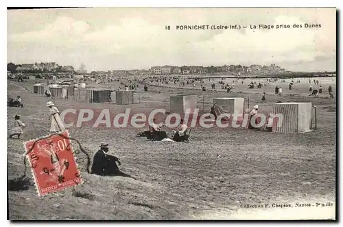
[[[180,95],[170,96],[170,111],[178,114],[183,114],[187,109],[193,113],[198,105],[198,96],[196,95]]]

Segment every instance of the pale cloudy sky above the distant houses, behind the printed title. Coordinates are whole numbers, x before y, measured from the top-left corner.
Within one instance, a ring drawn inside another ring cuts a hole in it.
[[[304,28],[305,23],[321,27]],[[293,25],[303,28],[293,28]],[[170,25],[171,29],[165,29]],[[246,29],[180,30],[176,25]],[[290,29],[250,29],[290,25]],[[152,66],[270,65],[336,70],[335,8],[73,8],[8,10],[8,62],[88,71]]]

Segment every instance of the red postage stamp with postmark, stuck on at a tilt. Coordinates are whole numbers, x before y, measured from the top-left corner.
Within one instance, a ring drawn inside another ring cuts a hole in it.
[[[82,183],[68,131],[24,142],[39,196]]]

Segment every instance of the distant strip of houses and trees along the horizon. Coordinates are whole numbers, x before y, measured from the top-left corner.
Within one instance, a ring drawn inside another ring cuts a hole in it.
[[[224,66],[152,66],[150,69],[130,69],[130,70],[107,70],[87,72],[86,66],[81,64],[79,69],[73,66],[61,66],[56,62],[41,62],[33,64],[7,64],[8,77],[23,75],[24,77],[53,77],[58,78],[86,78],[86,77],[132,77],[132,76],[156,76],[156,75],[228,75],[239,77],[272,77],[281,75],[295,75],[301,72],[292,72],[270,64],[262,66],[252,64],[243,65],[224,65]],[[311,72],[307,72],[311,73]]]

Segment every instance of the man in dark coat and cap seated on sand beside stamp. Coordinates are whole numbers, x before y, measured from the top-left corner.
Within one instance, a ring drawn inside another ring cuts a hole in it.
[[[108,152],[108,144],[102,143],[100,148],[101,149],[94,155],[91,174],[134,178],[133,176],[125,174],[119,170],[117,163],[118,165],[121,165],[121,162],[117,157],[106,154]],[[136,180],[136,178],[134,179]]]

